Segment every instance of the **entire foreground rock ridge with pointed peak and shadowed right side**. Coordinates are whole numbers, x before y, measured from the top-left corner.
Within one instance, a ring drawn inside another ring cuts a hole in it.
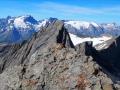
[[[74,46],[56,20],[29,42],[0,45],[0,90],[120,90],[119,57],[106,57],[112,49],[96,51],[92,42]]]

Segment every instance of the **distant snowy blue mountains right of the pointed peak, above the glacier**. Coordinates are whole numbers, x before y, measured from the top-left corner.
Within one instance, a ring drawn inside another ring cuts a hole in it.
[[[65,21],[65,27],[70,33],[83,37],[98,37],[102,35],[119,36],[120,26],[115,23],[97,24],[86,21]]]

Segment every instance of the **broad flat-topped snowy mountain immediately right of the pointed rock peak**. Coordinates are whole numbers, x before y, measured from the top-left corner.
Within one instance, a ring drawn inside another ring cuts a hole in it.
[[[94,22],[66,21],[65,27],[70,33],[83,37],[97,37],[104,33],[103,28]]]

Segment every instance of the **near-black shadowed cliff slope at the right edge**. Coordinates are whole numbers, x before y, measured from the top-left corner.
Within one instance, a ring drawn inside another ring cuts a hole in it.
[[[94,49],[91,54],[99,65],[120,79],[120,37],[107,41],[105,48]]]

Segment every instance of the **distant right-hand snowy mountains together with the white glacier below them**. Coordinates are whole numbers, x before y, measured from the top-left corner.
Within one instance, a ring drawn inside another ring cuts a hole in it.
[[[74,45],[92,41],[96,49],[103,48],[106,41],[120,35],[120,26],[115,23],[97,24],[86,21],[65,21],[65,27],[68,29]]]

